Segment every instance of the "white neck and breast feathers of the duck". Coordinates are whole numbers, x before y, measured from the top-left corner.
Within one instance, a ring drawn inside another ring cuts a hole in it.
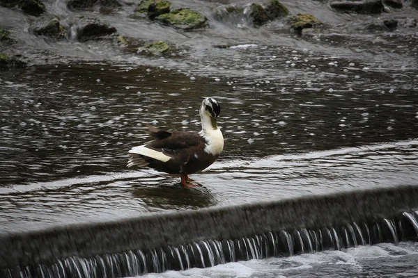
[[[212,119],[208,113],[204,111],[204,108],[201,108],[199,114],[202,123],[202,130],[199,134],[206,140],[205,152],[214,156],[219,156],[224,149],[224,136],[222,136],[222,132],[216,124],[215,126],[212,125]]]

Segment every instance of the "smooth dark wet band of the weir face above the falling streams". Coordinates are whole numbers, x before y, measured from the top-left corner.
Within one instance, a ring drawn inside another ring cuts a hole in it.
[[[416,208],[418,187],[401,186],[7,234],[0,236],[0,270],[51,264],[70,256],[88,258],[269,231],[374,223]]]

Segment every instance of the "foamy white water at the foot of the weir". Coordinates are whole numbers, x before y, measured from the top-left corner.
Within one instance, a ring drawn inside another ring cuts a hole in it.
[[[415,277],[417,244],[382,243],[287,258],[253,259],[212,268],[141,277]]]

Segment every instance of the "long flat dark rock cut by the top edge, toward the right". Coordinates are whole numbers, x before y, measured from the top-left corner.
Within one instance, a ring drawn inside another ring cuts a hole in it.
[[[382,13],[383,8],[385,7],[381,0],[332,1],[330,6],[336,10],[367,14]]]

